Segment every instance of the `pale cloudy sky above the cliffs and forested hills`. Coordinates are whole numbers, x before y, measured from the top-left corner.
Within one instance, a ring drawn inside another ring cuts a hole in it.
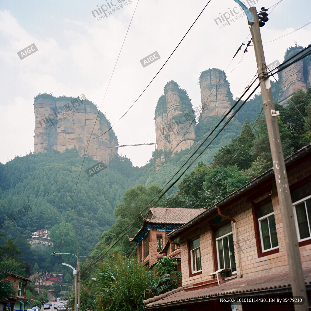
[[[200,16],[207,0],[130,1],[0,2],[1,163],[33,152],[33,104],[39,93],[85,94],[112,125],[118,122],[113,129],[119,145],[129,145],[156,142],[154,112],[167,82],[174,80],[187,90],[195,108],[201,105],[202,71],[224,70],[234,98],[255,76],[253,47],[247,53],[242,48],[232,60],[250,38],[247,17],[240,15],[233,0],[211,0]],[[244,2],[250,7],[251,0]],[[257,11],[269,8],[269,21],[260,28],[267,64],[282,63],[295,41],[304,47],[311,43],[311,24],[304,26],[311,21],[309,0],[282,0],[276,6],[277,0],[255,2]],[[113,11],[112,5],[119,9]],[[107,17],[97,16],[98,7],[107,7]],[[220,24],[221,16],[230,16],[227,25]],[[20,59],[17,52],[32,44],[38,50]],[[155,51],[160,58],[143,67],[140,60]],[[118,152],[142,166],[154,149],[155,145],[120,147]]]

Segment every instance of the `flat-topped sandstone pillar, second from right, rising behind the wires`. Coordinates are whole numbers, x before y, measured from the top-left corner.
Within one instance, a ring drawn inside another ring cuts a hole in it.
[[[215,115],[223,115],[233,104],[232,93],[223,70],[212,68],[200,75],[202,121]],[[228,115],[228,118],[231,116]]]

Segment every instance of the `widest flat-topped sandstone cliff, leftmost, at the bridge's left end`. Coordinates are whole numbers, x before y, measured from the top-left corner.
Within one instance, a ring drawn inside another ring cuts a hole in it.
[[[98,114],[96,106],[88,100],[72,97],[58,97],[39,94],[35,97],[35,152],[63,152],[66,148],[76,148],[83,156],[86,151],[88,139]],[[110,128],[104,114],[100,112],[92,133],[97,137]],[[91,139],[87,155],[94,160],[108,164],[108,156],[112,158],[117,154],[118,139],[113,130],[103,136]]]

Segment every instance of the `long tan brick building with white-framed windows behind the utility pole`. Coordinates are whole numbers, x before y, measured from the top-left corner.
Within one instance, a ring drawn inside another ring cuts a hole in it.
[[[296,232],[311,305],[311,144],[285,159]],[[273,169],[168,234],[180,240],[182,286],[144,301],[146,310],[294,310]],[[277,301],[277,300],[276,300]]]

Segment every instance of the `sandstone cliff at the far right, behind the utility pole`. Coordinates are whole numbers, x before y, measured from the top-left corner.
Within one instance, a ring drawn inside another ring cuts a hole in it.
[[[302,47],[295,46],[286,50],[284,60],[297,54]],[[281,91],[278,102],[281,105],[287,103],[293,93],[298,90],[306,91],[311,87],[311,62],[310,57],[306,57],[290,65],[279,73],[279,83]]]

